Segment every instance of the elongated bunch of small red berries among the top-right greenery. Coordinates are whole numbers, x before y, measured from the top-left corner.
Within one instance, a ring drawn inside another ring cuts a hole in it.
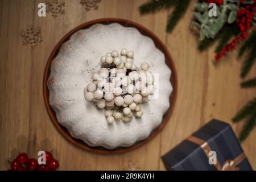
[[[244,0],[240,0],[242,3]],[[253,0],[253,5],[246,5],[245,7],[240,7],[237,11],[237,19],[236,22],[240,27],[241,34],[232,40],[231,43],[227,44],[225,47],[222,47],[221,52],[214,56],[215,60],[218,61],[221,57],[225,56],[225,53],[232,51],[240,40],[245,39],[248,35],[248,31],[251,29],[251,23],[253,22],[253,17],[256,10],[255,2]]]

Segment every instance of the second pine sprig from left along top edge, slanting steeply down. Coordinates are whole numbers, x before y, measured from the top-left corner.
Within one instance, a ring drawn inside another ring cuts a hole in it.
[[[174,29],[177,22],[179,22],[185,11],[187,11],[190,2],[191,0],[177,1],[174,11],[168,17],[167,32],[171,32]]]

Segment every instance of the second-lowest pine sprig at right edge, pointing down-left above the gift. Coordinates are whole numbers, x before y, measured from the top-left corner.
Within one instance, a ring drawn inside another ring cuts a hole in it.
[[[255,111],[256,111],[256,97],[253,100],[251,100],[246,106],[244,106],[240,111],[238,111],[238,113],[232,120],[234,123],[236,123]]]

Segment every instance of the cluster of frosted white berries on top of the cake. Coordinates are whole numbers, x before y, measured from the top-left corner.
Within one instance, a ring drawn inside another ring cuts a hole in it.
[[[112,51],[101,56],[101,69],[93,73],[93,81],[84,89],[87,101],[96,103],[100,109],[106,108],[108,123],[122,119],[130,122],[133,115],[141,118],[141,104],[154,94],[155,77],[149,71],[150,65],[142,63],[137,68],[134,52],[123,48],[120,52]]]

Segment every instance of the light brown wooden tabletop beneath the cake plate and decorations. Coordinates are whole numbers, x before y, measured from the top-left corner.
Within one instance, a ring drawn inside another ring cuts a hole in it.
[[[137,8],[144,0],[93,0],[84,5],[80,0],[59,0],[60,11],[47,9],[46,17],[38,16],[40,2],[45,1],[0,1],[2,170],[9,168],[7,160],[19,151],[35,158],[40,150],[53,151],[59,169],[163,170],[160,156],[212,118],[232,124],[234,114],[255,96],[255,89],[240,88],[241,60],[236,51],[216,66],[213,47],[203,53],[196,49],[198,38],[189,31],[193,3],[172,34],[167,34],[171,11],[141,16]],[[55,6],[53,1],[49,4]],[[170,121],[150,142],[125,154],[92,154],[73,146],[53,126],[43,100],[43,72],[53,47],[72,28],[98,18],[129,19],[149,28],[166,44],[177,69],[178,95]],[[255,73],[254,67],[248,77]],[[241,126],[232,124],[236,134]],[[254,169],[255,138],[256,130],[242,143]]]

